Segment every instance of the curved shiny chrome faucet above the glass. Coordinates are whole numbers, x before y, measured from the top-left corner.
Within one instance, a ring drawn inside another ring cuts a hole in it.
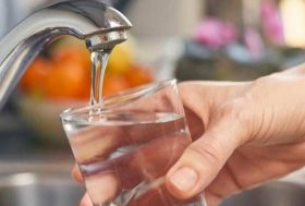
[[[89,51],[126,40],[130,21],[100,0],[70,0],[28,15],[0,41],[0,108],[33,59],[62,35],[83,39]]]

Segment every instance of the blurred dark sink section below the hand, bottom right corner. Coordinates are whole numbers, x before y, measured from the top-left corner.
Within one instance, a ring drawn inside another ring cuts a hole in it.
[[[305,185],[272,182],[225,199],[220,206],[304,206]]]

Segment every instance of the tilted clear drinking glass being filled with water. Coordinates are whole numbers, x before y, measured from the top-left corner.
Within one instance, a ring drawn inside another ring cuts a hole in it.
[[[191,135],[175,80],[105,99],[99,107],[61,114],[95,206],[204,206],[202,195],[174,198],[163,175]]]

